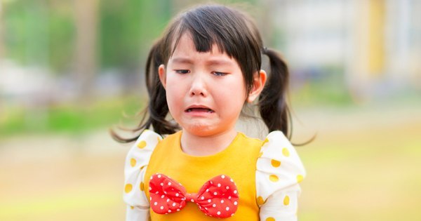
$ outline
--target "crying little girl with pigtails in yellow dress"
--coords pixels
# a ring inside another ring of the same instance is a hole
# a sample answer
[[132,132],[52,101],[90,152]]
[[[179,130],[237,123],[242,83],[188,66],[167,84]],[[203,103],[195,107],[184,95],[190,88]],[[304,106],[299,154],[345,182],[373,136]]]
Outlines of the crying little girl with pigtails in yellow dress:
[[[136,140],[126,159],[126,220],[297,220],[305,169],[285,136],[288,69],[250,18],[219,5],[178,15],[149,53],[146,82],[142,133],[113,134]],[[255,101],[265,140],[234,128]]]

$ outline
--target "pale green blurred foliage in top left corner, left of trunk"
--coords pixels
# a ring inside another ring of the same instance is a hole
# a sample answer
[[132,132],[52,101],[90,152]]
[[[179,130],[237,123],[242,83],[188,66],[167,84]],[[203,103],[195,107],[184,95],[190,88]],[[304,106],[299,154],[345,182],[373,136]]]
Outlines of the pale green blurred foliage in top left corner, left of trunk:
[[49,66],[55,72],[69,69],[76,32],[70,2],[19,0],[5,6],[8,57],[22,65]]

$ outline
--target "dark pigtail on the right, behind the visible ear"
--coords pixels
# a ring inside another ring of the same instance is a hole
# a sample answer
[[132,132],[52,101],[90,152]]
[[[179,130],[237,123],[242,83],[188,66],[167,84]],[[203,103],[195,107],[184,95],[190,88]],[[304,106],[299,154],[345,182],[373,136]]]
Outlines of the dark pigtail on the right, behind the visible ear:
[[288,133],[290,112],[286,103],[289,81],[288,67],[276,51],[264,48],[262,52],[269,57],[270,73],[266,86],[259,96],[260,116],[269,132],[281,130],[290,138]]

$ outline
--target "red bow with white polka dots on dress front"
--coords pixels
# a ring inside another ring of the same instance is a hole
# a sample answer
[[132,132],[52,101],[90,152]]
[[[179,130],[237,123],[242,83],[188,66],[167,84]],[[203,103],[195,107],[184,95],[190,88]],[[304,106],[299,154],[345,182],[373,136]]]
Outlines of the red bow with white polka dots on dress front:
[[149,181],[151,208],[155,213],[168,214],[180,211],[191,201],[211,217],[226,218],[238,208],[239,193],[234,180],[218,175],[206,182],[197,194],[189,194],[177,181],[156,173]]

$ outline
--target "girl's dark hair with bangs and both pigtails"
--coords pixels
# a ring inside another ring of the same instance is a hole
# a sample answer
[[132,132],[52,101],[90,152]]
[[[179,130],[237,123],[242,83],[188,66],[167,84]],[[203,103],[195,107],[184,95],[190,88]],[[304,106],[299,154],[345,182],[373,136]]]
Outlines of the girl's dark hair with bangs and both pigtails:
[[[205,5],[192,8],[178,15],[154,43],[146,64],[146,84],[149,105],[142,121],[133,132],[142,133],[153,127],[161,135],[175,133],[180,127],[168,120],[166,91],[159,81],[158,67],[166,65],[183,34],[190,34],[196,51],[208,52],[218,46],[222,53],[238,62],[244,76],[246,93],[253,88],[253,79],[262,65],[262,55],[269,58],[270,71],[267,84],[259,95],[260,116],[270,131],[281,130],[289,135],[290,113],[286,102],[288,89],[288,67],[276,51],[263,46],[262,38],[253,20],[241,11],[220,5]],[[131,142],[138,138],[125,139],[111,131],[119,142]],[[140,134],[139,133],[139,134]]]

